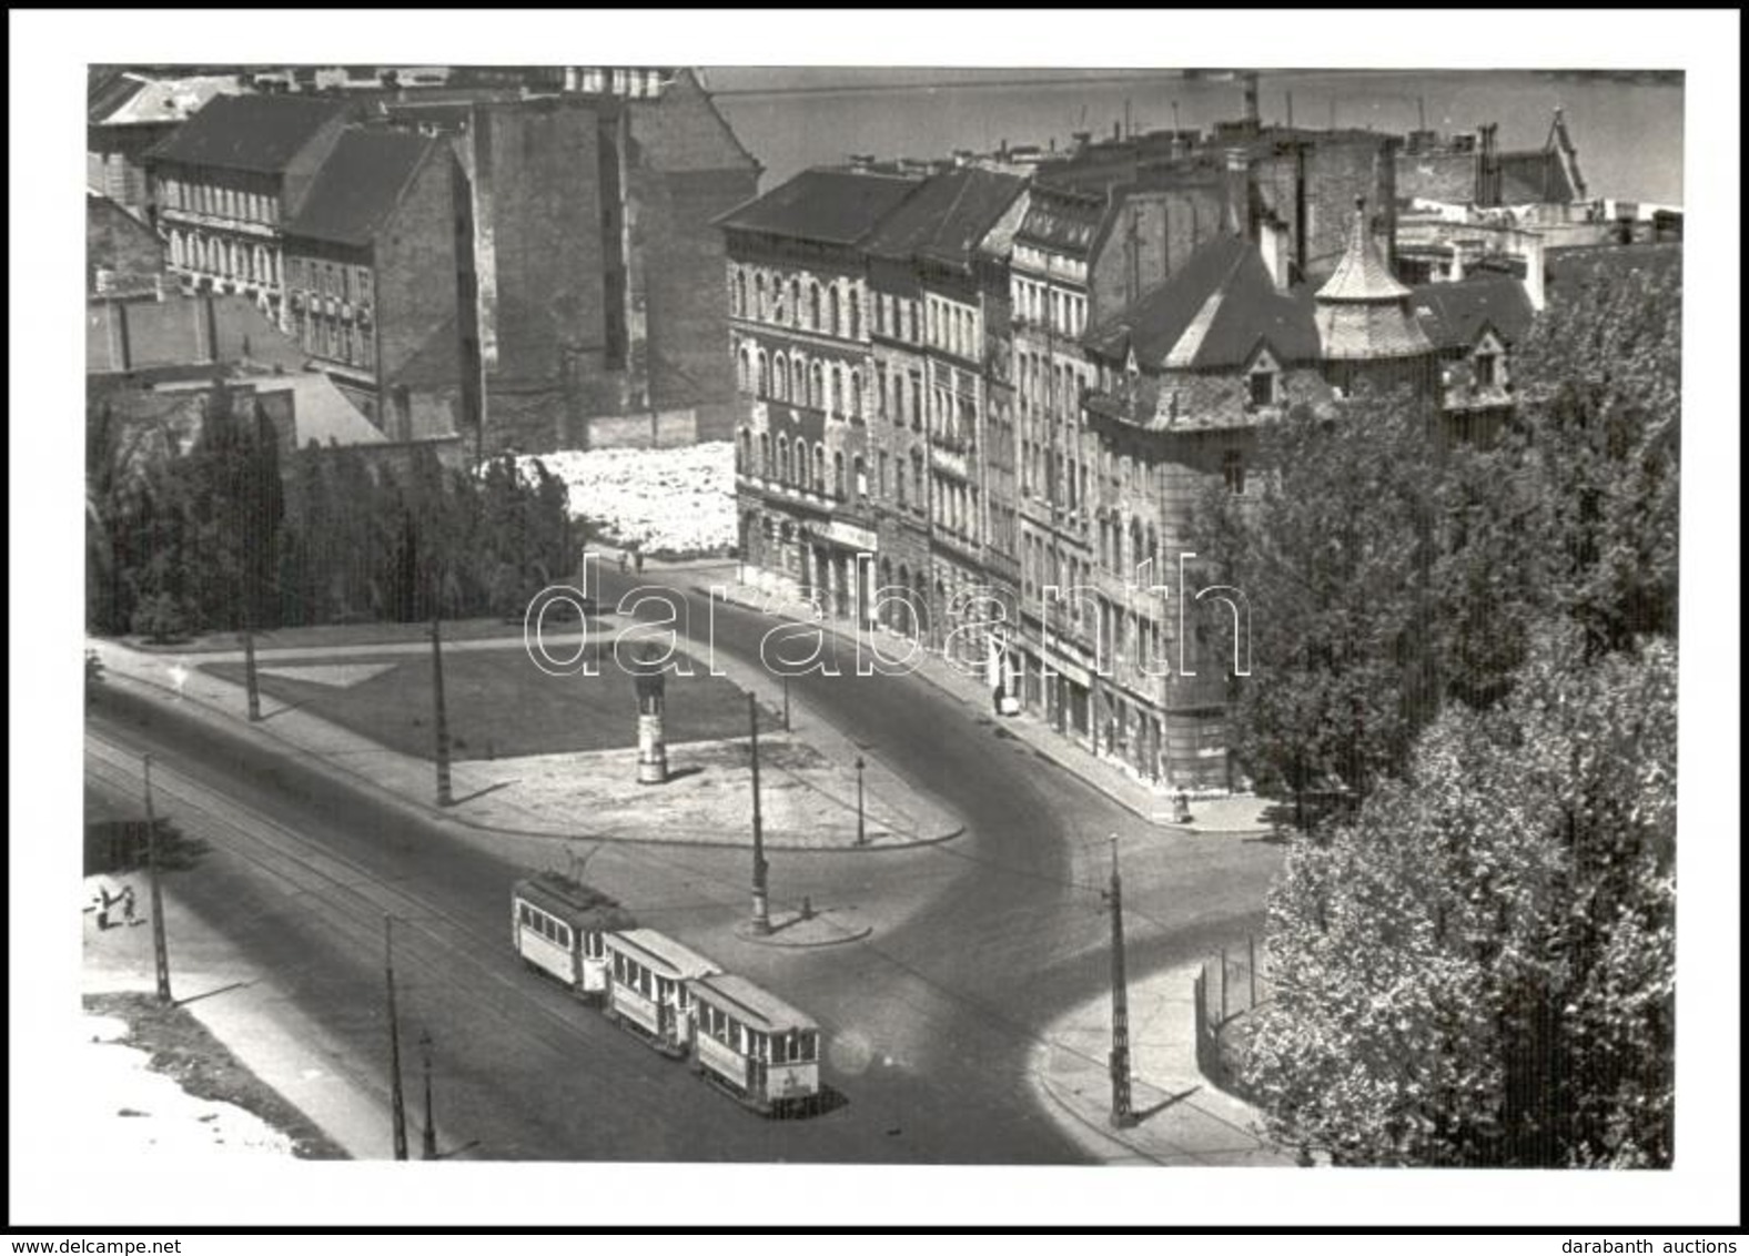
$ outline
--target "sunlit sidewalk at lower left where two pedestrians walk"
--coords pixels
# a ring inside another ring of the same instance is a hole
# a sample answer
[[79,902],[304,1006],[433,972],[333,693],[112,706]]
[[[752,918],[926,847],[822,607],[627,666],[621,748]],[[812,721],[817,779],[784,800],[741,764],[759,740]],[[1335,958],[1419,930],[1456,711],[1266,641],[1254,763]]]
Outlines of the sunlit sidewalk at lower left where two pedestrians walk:
[[[80,995],[150,994],[156,990],[156,971],[145,876],[110,875],[108,880],[138,882],[140,924],[98,929],[96,913],[84,915]],[[229,939],[168,894],[164,932],[171,955],[171,994],[206,1032],[350,1156],[383,1158],[390,1153],[388,1106],[348,1074],[339,1046],[299,1013],[269,976],[252,969]],[[159,1104],[152,1116],[175,1120],[178,1107],[187,1106]],[[138,1120],[115,1113],[93,1116],[105,1121]],[[133,1137],[138,1130],[128,1134]],[[105,1135],[98,1132],[93,1146],[103,1142]],[[285,1155],[290,1155],[289,1148]]]

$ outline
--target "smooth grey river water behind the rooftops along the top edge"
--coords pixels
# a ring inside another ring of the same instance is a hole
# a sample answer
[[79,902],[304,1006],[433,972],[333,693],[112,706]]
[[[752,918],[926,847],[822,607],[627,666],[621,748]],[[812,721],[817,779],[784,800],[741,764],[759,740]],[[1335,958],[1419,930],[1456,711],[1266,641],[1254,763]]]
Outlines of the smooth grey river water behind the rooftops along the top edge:
[[[799,170],[880,157],[946,156],[1009,143],[1058,147],[1072,131],[1207,129],[1240,115],[1238,82],[1175,70],[705,70],[717,107],[766,166],[761,187]],[[1425,114],[1436,131],[1499,122],[1502,149],[1537,149],[1557,105],[1592,196],[1683,203],[1683,86],[1555,77],[1518,70],[1279,70],[1259,80],[1265,121],[1404,133]],[[1174,105],[1177,107],[1174,114]]]

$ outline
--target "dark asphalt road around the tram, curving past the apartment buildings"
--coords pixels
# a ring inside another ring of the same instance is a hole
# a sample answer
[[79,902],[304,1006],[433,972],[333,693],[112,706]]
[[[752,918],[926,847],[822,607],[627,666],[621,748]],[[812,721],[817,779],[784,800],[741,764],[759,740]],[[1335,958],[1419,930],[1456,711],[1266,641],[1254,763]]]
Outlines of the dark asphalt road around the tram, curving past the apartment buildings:
[[[612,579],[607,591],[616,593]],[[705,625],[701,598],[693,623]],[[773,621],[717,605],[719,651],[757,658]],[[967,833],[881,854],[773,857],[773,894],[806,894],[881,922],[862,943],[787,952],[736,939],[745,857],[603,847],[588,876],[640,918],[806,1008],[827,1030],[824,1076],[843,1097],[808,1121],[763,1121],[661,1060],[509,950],[514,854],[336,785],[247,738],[103,696],[87,787],[138,794],[159,756],[163,810],[210,843],[173,892],[355,1050],[357,1081],[387,1095],[383,915],[394,913],[402,1016],[437,1041],[446,1139],[507,1160],[1069,1163],[1081,1158],[1023,1085],[1037,1034],[1107,981],[1109,834],[1119,836],[1130,971],[1238,943],[1261,922],[1279,862],[1268,843],[1165,834],[1123,812],[983,714],[916,677],[792,682],[826,717]],[[409,1081],[416,1071],[409,1071]]]

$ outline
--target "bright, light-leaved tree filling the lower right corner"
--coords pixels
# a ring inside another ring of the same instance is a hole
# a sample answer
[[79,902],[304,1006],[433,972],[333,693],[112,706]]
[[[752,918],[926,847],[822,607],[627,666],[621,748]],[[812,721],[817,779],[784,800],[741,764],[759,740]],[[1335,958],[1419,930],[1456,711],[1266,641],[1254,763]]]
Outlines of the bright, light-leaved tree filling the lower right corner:
[[1245,1072],[1279,1141],[1373,1165],[1669,1165],[1676,647],[1539,630],[1270,896]]

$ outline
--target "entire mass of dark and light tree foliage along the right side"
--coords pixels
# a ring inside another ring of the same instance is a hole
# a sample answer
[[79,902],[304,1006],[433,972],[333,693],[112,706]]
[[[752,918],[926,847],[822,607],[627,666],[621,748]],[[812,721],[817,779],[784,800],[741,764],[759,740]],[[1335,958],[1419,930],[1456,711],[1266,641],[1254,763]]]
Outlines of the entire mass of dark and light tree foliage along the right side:
[[1564,275],[1485,444],[1403,399],[1268,432],[1203,548],[1238,743],[1361,805],[1293,840],[1245,1083],[1338,1163],[1669,1165],[1681,276]]

